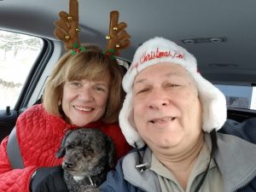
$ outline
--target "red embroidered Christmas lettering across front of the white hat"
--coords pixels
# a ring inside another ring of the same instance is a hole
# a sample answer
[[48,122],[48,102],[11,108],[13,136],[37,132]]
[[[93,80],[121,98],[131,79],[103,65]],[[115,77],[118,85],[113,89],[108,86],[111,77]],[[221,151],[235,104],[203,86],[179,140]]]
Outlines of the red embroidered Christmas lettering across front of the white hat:
[[139,65],[142,65],[144,62],[152,61],[154,59],[160,59],[163,57],[170,57],[172,59],[182,59],[185,60],[185,55],[178,53],[176,50],[164,50],[161,51],[160,49],[156,49],[154,51],[150,51],[150,53],[144,52],[143,55],[140,57],[140,60],[137,61],[133,68],[137,68]]

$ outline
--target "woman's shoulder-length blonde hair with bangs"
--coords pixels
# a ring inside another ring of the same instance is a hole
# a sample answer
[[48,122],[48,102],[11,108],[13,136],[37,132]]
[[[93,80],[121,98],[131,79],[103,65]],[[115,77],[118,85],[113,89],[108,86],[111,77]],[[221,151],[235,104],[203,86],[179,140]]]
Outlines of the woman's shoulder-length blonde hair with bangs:
[[57,62],[44,90],[44,108],[48,113],[65,119],[60,104],[63,85],[66,81],[98,80],[109,77],[108,103],[102,121],[105,123],[117,122],[125,96],[121,86],[123,70],[118,61],[110,59],[108,55],[103,55],[102,49],[98,46],[84,44],[84,47],[86,49],[84,52],[72,55],[69,51]]

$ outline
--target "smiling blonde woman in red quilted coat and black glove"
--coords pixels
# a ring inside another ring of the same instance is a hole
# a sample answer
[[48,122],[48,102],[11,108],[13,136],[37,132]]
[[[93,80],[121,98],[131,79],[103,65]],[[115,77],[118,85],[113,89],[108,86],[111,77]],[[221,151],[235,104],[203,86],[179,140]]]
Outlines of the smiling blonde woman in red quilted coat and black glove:
[[113,138],[117,160],[130,149],[117,124],[124,96],[122,69],[97,46],[84,47],[85,51],[61,57],[49,76],[43,104],[28,108],[17,120],[24,169],[11,168],[8,137],[1,143],[0,191],[28,192],[30,185],[32,191],[67,191],[55,153],[68,130],[88,127],[105,132]]

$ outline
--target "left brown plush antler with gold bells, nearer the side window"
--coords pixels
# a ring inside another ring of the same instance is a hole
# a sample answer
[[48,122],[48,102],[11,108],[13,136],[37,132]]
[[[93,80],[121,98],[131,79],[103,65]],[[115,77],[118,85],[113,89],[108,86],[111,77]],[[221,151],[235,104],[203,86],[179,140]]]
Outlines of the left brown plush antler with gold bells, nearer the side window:
[[60,20],[55,22],[55,36],[64,42],[66,49],[73,49],[73,46],[79,48],[80,29],[78,0],[69,0],[69,14],[65,11],[61,11],[59,15]]

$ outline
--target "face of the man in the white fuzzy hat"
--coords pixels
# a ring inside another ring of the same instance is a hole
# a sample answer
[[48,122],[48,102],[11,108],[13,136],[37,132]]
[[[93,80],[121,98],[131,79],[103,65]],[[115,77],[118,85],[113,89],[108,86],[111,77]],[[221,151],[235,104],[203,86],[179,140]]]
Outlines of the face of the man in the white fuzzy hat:
[[186,148],[201,134],[201,102],[183,67],[160,63],[145,68],[133,84],[137,131],[154,150]]

